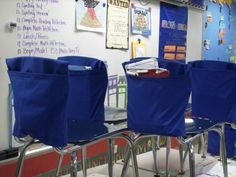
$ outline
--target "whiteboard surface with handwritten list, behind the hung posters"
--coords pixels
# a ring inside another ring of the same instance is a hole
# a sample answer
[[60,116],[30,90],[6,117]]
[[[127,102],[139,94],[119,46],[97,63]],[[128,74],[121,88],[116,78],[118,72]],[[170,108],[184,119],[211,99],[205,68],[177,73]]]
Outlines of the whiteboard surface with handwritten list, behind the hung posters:
[[[131,0],[137,6],[139,1]],[[121,63],[131,58],[131,42],[140,38],[147,44],[147,55],[156,56],[159,43],[160,2],[151,1],[152,32],[148,38],[131,35],[129,50],[105,48],[105,33],[78,31],[75,28],[75,0],[1,0],[0,6],[0,151],[9,147],[8,83],[5,58],[20,55],[36,55],[57,58],[64,55],[83,55],[107,61],[109,75],[123,75]],[[193,30],[202,13],[189,10],[188,32]],[[9,30],[9,22],[17,22],[17,28]],[[187,44],[192,39],[198,43],[187,49],[187,59],[201,56],[202,27],[189,33]],[[188,55],[191,54],[191,55]]]

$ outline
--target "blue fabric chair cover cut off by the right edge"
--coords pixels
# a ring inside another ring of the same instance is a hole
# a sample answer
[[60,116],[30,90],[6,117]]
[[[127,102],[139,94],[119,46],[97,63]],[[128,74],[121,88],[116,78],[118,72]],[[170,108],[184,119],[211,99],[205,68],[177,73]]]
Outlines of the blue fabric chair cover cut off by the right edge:
[[192,115],[236,122],[236,64],[201,60],[190,66]]

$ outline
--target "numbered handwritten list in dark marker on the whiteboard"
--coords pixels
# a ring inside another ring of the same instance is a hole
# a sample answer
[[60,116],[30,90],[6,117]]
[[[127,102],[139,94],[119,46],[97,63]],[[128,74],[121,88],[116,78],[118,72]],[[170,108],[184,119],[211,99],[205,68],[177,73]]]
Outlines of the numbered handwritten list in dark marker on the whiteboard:
[[[79,47],[70,46],[67,22],[60,17],[59,0],[17,0],[17,54],[18,55],[76,55]],[[53,9],[53,10],[52,10]]]

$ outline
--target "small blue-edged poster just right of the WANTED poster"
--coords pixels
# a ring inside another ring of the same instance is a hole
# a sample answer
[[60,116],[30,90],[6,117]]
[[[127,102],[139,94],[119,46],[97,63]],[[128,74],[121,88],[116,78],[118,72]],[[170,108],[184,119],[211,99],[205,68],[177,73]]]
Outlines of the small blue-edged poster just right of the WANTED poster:
[[151,35],[151,8],[131,5],[132,34]]

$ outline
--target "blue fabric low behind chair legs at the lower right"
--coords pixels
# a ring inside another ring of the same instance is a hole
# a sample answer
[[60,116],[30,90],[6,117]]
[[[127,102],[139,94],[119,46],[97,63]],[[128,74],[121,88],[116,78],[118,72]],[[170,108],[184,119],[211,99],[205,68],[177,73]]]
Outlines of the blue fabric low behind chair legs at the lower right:
[[[226,154],[228,158],[233,158],[234,155],[234,144],[236,142],[236,130],[230,128],[229,126],[225,127],[225,146]],[[220,155],[220,136],[218,133],[210,131],[208,133],[208,146],[207,152],[213,155]]]

